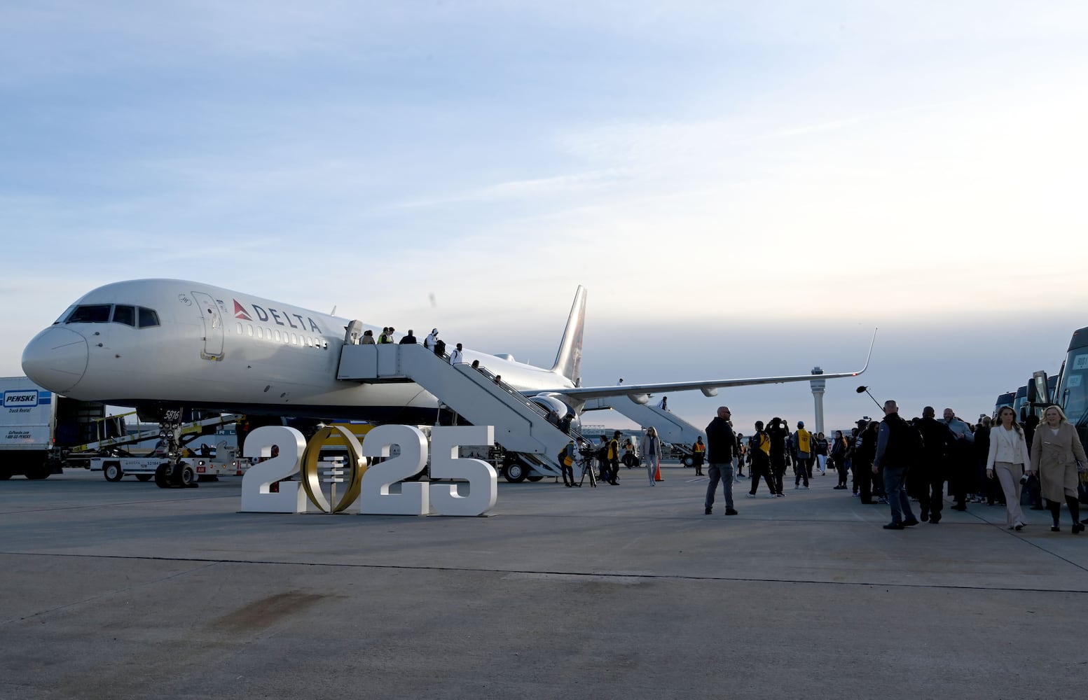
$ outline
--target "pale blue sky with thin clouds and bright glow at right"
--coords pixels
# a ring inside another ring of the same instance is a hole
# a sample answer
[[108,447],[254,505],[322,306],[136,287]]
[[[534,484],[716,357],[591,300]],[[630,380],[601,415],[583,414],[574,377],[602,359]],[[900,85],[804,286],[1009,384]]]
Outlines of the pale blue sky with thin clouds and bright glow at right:
[[[547,365],[582,284],[583,385],[854,371],[879,328],[833,429],[861,383],[990,413],[1088,325],[1079,1],[42,0],[0,65],[0,375],[120,279]],[[669,397],[720,404],[813,418]]]

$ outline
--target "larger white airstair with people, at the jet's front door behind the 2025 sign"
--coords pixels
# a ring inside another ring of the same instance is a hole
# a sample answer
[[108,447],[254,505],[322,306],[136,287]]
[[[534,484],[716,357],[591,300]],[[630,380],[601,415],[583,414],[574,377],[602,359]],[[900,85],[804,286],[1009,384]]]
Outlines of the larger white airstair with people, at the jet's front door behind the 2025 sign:
[[561,476],[556,455],[573,437],[547,411],[494,375],[469,364],[449,364],[421,345],[345,345],[336,378],[415,382],[473,425],[495,428],[495,441],[517,452],[544,476]]

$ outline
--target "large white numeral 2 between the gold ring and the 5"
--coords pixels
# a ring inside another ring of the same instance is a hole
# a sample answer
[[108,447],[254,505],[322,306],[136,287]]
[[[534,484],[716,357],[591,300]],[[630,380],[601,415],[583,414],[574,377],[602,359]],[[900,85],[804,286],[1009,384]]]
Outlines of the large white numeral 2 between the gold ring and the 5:
[[[375,515],[426,515],[431,510],[428,485],[404,482],[423,471],[426,464],[426,436],[410,425],[379,425],[362,440],[364,457],[390,457],[390,446],[399,445],[400,454],[371,464],[362,475],[359,510]],[[400,492],[390,486],[400,482]]]

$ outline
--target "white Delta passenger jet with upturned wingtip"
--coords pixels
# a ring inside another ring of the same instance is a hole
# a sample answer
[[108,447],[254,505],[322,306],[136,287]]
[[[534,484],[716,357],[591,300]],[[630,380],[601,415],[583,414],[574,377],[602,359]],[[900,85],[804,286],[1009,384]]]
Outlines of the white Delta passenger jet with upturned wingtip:
[[[806,374],[583,387],[584,320],[585,290],[579,287],[549,368],[471,350],[465,351],[465,361],[480,360],[524,396],[559,415],[576,416],[592,399],[628,397],[645,403],[652,392],[698,389],[709,397],[724,387],[813,379]],[[440,400],[418,384],[336,378],[341,349],[355,341],[353,333],[361,334],[359,326],[196,282],[126,280],[86,293],[37,334],[23,351],[23,371],[50,391],[112,405],[433,423]],[[819,378],[853,377],[867,366],[868,357],[857,372]]]

